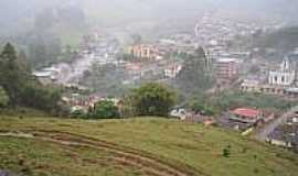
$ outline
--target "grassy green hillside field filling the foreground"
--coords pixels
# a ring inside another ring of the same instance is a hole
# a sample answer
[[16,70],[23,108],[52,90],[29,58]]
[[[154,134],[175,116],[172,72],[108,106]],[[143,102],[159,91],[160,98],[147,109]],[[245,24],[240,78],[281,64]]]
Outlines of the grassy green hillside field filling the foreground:
[[[0,168],[24,175],[296,176],[297,155],[167,119],[0,118]],[[231,156],[223,150],[231,146]]]

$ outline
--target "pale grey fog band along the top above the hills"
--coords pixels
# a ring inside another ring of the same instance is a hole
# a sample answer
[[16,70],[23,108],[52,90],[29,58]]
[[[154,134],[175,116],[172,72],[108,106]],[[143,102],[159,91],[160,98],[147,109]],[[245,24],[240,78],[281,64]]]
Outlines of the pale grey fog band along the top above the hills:
[[91,22],[99,24],[195,16],[205,10],[237,18],[298,22],[297,0],[1,0],[0,31],[29,28],[43,9],[64,6],[81,8]]

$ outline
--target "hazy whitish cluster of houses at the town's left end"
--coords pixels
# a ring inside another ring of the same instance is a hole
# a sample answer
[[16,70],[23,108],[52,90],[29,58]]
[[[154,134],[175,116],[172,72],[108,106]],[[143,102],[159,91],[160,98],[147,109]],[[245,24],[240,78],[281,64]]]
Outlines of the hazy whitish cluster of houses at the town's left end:
[[119,42],[113,35],[100,32],[92,32],[83,37],[83,42],[76,48],[76,55],[72,63],[53,64],[49,67],[33,72],[33,75],[43,84],[77,84],[84,72],[97,65],[120,64],[116,59],[119,53]]

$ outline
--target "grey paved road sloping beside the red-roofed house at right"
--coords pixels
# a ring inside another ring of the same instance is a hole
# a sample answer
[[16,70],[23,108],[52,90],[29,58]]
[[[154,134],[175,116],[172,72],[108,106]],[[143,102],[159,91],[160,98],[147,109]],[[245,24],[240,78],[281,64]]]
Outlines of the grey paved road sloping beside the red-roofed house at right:
[[296,111],[298,111],[298,106],[291,108],[289,111],[284,113],[280,118],[274,120],[272,123],[265,125],[256,135],[255,138],[259,141],[266,141],[267,136],[274,132],[276,128],[287,122],[288,117],[292,116]]

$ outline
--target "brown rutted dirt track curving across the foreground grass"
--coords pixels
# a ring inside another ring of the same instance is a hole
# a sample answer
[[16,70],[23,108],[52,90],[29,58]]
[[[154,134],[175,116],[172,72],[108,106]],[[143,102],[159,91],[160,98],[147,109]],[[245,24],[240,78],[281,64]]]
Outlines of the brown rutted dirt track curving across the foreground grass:
[[[172,164],[143,151],[120,146],[107,141],[86,138],[79,134],[60,131],[26,131],[2,132],[0,133],[0,136],[34,139],[72,147],[87,147],[105,151],[110,153],[108,160],[111,163],[139,168],[142,173],[150,176],[206,176],[206,174],[179,162],[173,162],[174,164]],[[92,162],[96,163],[97,158],[93,158]]]

